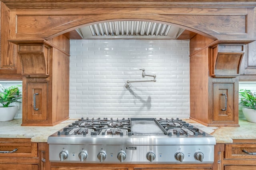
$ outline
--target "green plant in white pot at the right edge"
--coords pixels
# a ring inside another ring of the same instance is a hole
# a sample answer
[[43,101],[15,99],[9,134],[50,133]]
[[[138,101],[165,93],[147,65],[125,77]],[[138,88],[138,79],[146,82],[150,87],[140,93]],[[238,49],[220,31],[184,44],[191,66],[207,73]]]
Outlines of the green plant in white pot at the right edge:
[[247,121],[256,123],[256,93],[251,90],[240,90],[240,105]]

